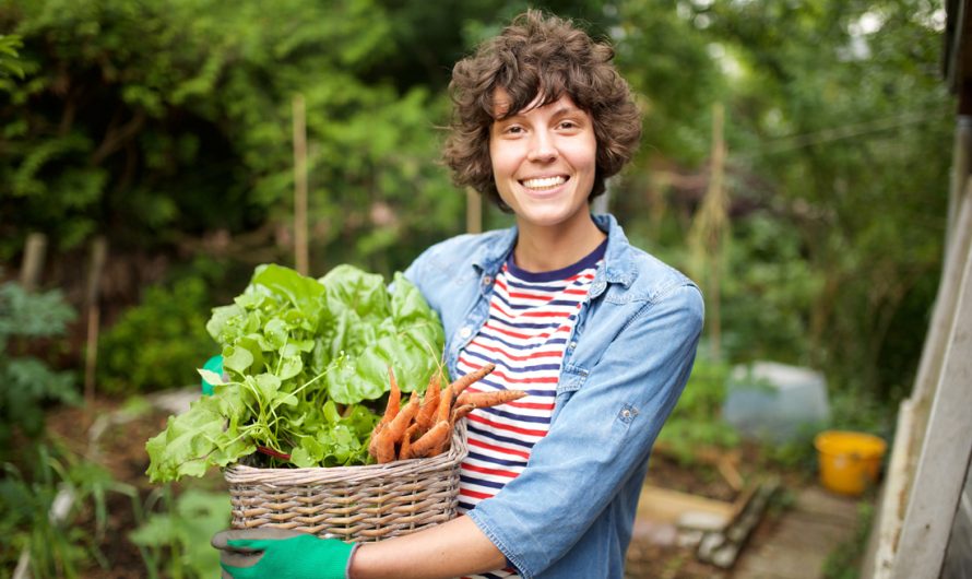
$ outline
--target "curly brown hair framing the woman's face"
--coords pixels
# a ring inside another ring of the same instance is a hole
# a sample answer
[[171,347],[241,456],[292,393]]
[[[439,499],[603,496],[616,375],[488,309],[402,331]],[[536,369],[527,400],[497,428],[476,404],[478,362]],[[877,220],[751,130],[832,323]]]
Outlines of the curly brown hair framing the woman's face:
[[509,210],[496,189],[489,158],[489,129],[505,118],[496,118],[493,107],[494,93],[502,87],[511,105],[506,116],[523,110],[537,95],[537,106],[543,106],[564,94],[591,115],[597,169],[588,200],[603,193],[605,179],[625,166],[641,138],[641,114],[613,58],[611,46],[594,42],[570,21],[529,10],[460,60],[449,84],[453,115],[443,149],[455,185],[472,186]]

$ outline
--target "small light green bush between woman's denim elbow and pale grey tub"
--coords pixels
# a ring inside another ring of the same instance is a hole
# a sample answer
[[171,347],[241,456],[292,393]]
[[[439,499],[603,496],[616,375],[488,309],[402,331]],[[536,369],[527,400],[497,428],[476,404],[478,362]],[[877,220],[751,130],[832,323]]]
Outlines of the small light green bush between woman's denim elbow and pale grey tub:
[[738,434],[720,418],[728,367],[707,356],[702,350],[685,391],[657,439],[667,453],[685,464],[695,462],[700,447],[731,448],[739,442]]

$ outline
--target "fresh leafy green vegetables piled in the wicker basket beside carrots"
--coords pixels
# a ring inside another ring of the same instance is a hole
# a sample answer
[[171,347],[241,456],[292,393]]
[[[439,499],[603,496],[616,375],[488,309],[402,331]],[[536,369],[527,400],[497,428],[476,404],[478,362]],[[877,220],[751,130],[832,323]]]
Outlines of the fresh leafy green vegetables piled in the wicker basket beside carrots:
[[297,466],[364,464],[392,366],[405,392],[439,371],[441,323],[401,273],[339,265],[320,280],[260,265],[206,323],[228,376],[199,370],[212,397],[169,417],[145,448],[153,482],[201,476],[258,446]]

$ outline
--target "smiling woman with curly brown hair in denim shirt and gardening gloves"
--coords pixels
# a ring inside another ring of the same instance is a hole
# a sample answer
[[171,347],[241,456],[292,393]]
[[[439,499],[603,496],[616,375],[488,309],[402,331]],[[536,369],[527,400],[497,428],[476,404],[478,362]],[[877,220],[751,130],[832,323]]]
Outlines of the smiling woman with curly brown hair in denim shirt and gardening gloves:
[[246,577],[623,577],[654,439],[691,370],[698,288],[590,201],[641,121],[609,47],[530,11],[460,61],[446,159],[515,216],[406,271],[446,328],[450,373],[530,395],[469,417],[457,519],[380,543],[233,542]]

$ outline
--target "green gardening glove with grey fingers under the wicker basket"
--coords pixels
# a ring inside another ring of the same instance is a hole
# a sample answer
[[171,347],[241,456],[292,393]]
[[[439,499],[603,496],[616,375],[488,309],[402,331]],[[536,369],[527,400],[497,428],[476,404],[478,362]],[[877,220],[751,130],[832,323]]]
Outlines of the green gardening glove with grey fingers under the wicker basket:
[[[286,539],[235,539],[248,531],[224,531],[213,537],[222,548],[220,566],[233,579],[346,579],[356,545],[300,533]],[[259,536],[253,529],[252,535]],[[222,545],[222,546],[221,546]],[[230,562],[230,563],[227,563]]]

